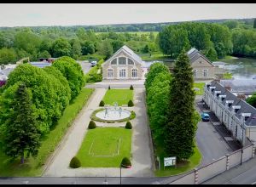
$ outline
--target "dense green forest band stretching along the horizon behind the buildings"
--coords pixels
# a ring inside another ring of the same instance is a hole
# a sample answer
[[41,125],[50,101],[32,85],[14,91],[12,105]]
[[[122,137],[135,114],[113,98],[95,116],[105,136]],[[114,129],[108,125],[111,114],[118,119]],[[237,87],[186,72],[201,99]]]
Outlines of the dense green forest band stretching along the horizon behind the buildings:
[[[227,55],[256,58],[254,19],[208,20],[113,26],[37,26],[0,28],[0,64],[24,57],[70,56],[108,59],[127,45],[144,60],[175,59],[197,48],[211,60]],[[105,28],[105,29],[104,29]]]

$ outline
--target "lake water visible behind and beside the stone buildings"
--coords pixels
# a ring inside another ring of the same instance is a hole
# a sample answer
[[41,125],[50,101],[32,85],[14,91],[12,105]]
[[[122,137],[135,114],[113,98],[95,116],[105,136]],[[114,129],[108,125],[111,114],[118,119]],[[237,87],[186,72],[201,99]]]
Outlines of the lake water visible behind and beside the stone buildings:
[[[237,58],[237,59],[221,59],[219,61],[225,62],[225,71],[233,74],[234,79],[249,79],[256,77],[256,59]],[[163,62],[167,66],[173,66],[172,62]],[[149,67],[154,61],[143,62],[144,67]],[[256,81],[256,80],[255,80]]]

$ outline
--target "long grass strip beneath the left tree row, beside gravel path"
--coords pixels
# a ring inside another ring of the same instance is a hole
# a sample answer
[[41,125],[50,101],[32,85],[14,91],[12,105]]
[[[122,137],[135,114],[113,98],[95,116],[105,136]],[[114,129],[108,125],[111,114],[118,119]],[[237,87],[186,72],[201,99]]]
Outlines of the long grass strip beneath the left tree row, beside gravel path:
[[44,139],[42,139],[42,144],[36,158],[30,157],[26,160],[25,164],[20,165],[20,158],[15,161],[9,161],[9,158],[4,156],[3,152],[0,152],[0,176],[41,176],[45,161],[56,149],[56,146],[60,143],[61,139],[67,132],[67,128],[70,127],[73,120],[93,92],[94,89],[83,88],[77,98],[74,99],[73,104],[67,106],[63,116],[61,116],[61,119],[58,121],[55,128],[52,129],[49,134],[45,135]]

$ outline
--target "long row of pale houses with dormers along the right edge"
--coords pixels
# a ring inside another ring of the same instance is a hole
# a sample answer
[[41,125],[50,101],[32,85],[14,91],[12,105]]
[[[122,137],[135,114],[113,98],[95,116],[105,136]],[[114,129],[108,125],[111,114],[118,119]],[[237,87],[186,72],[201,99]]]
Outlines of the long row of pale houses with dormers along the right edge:
[[256,109],[252,105],[218,81],[206,84],[203,100],[241,144],[247,144],[247,139],[256,141]]

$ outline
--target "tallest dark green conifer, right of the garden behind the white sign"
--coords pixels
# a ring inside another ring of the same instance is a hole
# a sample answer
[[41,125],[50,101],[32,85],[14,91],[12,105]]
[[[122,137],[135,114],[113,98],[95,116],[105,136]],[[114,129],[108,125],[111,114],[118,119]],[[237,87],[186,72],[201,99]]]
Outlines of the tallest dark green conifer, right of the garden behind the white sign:
[[170,102],[165,126],[164,149],[168,156],[188,159],[194,154],[195,91],[189,57],[185,51],[175,62],[170,89]]

